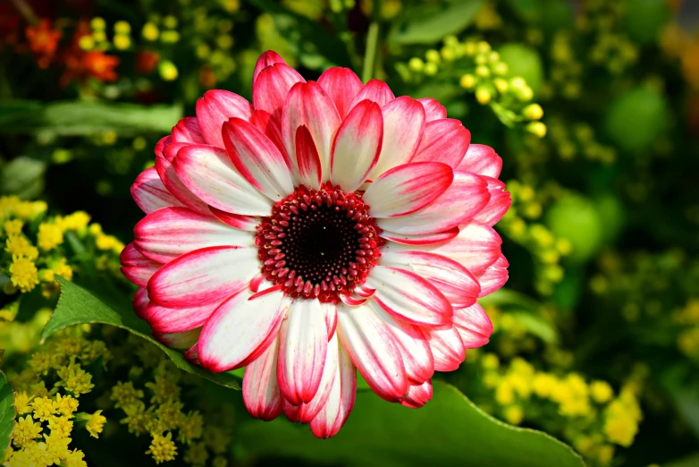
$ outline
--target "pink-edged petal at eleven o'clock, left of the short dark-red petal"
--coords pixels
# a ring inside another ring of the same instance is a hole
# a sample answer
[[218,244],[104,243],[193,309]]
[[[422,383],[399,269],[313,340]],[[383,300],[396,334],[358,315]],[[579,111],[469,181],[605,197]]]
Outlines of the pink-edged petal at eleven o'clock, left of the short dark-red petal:
[[282,200],[293,191],[286,157],[255,126],[240,118],[232,118],[223,124],[223,144],[233,166],[267,198]]

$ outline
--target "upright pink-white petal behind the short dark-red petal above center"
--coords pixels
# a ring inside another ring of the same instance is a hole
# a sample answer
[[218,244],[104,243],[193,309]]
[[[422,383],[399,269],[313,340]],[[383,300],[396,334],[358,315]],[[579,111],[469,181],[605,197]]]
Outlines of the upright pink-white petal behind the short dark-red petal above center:
[[[320,165],[323,167],[323,181],[330,176],[330,153],[335,132],[341,119],[333,100],[315,81],[297,84],[284,103],[282,112],[282,135],[284,147],[296,163],[296,132],[299,126],[306,125],[316,143]],[[298,168],[298,167],[297,167]]]

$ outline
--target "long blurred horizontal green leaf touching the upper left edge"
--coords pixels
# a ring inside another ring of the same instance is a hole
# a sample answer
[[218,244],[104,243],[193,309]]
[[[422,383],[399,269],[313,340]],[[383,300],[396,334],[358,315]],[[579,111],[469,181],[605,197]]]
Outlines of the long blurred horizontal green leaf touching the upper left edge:
[[96,132],[139,134],[170,132],[182,117],[182,108],[107,104],[98,101],[52,102],[30,100],[0,102],[0,132],[54,132],[58,135],[90,135]]

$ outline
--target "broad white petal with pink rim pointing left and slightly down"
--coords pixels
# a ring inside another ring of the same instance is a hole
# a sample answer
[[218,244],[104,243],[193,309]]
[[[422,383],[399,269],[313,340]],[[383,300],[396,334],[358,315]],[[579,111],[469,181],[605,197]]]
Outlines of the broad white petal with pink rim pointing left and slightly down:
[[161,267],[148,281],[148,296],[172,308],[214,303],[248,287],[258,270],[257,248],[195,250]]

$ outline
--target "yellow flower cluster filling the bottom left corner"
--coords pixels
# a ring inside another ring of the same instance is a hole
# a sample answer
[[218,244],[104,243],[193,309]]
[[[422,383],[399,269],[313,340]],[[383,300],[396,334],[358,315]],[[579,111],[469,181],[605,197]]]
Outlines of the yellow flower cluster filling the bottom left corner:
[[[82,426],[90,436],[98,437],[106,419],[102,411],[92,414],[77,412],[80,395],[90,392],[91,375],[80,369],[84,364],[102,358],[108,360],[104,342],[84,339],[79,329],[64,331],[46,344],[46,349],[35,352],[30,365],[19,375],[10,375],[17,393],[14,406],[17,420],[12,433],[12,445],[4,453],[4,467],[45,467],[54,464],[69,467],[87,467],[84,454],[72,448],[72,430]],[[67,365],[65,363],[68,362]],[[59,381],[46,389],[42,376],[53,374]],[[63,387],[64,393],[59,392]]]

